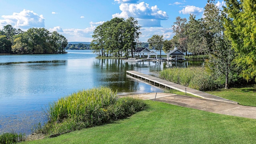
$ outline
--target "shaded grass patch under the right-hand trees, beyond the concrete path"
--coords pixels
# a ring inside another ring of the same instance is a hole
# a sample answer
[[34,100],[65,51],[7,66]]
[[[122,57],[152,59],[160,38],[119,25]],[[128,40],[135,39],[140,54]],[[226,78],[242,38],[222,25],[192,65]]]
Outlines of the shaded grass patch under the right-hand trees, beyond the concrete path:
[[207,93],[236,101],[244,106],[256,106],[256,85],[243,88],[219,89],[207,91]]

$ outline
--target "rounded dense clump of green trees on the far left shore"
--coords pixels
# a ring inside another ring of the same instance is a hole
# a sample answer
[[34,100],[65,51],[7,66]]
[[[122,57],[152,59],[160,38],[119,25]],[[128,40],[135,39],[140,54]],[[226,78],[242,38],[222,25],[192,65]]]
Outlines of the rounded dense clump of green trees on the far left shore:
[[65,53],[68,40],[58,32],[45,28],[27,31],[6,25],[0,30],[1,54],[57,54]]

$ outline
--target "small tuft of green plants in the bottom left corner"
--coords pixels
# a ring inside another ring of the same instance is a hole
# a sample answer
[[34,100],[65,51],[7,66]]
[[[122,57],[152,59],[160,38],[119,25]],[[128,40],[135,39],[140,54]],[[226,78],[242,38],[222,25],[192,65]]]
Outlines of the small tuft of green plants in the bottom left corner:
[[25,134],[4,133],[0,135],[0,144],[14,144],[17,142],[22,142],[26,140]]

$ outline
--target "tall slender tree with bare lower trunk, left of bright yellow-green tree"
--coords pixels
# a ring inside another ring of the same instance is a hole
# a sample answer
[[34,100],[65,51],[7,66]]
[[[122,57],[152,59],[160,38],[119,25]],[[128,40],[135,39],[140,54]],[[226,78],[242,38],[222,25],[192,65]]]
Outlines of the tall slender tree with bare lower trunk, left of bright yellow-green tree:
[[225,76],[225,88],[229,88],[229,75],[233,71],[234,50],[230,41],[224,35],[223,18],[215,0],[208,0],[204,7],[204,22],[207,35],[209,61],[208,68],[218,77]]

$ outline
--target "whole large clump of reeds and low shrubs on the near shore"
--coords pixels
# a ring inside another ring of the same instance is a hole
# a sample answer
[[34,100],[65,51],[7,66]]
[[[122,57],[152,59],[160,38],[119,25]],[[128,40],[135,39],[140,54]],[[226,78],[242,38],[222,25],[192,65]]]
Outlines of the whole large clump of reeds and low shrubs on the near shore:
[[126,118],[145,108],[143,100],[118,98],[110,88],[80,90],[49,104],[47,134],[80,130]]

